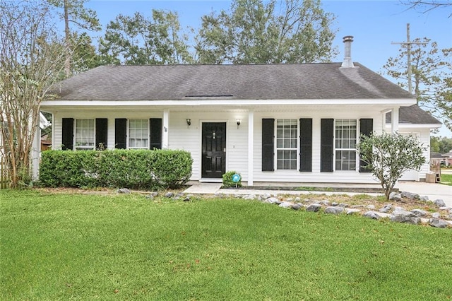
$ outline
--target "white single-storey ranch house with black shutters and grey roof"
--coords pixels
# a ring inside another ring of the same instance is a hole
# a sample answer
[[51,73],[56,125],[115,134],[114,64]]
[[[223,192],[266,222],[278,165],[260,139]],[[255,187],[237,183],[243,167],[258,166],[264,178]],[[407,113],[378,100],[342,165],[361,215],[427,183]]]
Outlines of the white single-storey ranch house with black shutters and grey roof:
[[[54,149],[184,149],[195,181],[235,170],[250,186],[374,183],[360,170],[359,134],[400,131],[428,146],[441,124],[410,93],[352,63],[351,42],[342,63],[100,66],[61,82],[41,110],[53,114]],[[426,172],[428,163],[405,179]]]

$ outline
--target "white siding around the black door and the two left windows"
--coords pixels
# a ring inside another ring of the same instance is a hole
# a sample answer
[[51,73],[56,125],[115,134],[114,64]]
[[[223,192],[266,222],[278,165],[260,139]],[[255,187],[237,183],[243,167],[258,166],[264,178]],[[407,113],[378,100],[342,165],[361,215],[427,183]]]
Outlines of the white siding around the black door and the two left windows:
[[[246,181],[248,177],[248,120],[244,112],[172,112],[169,111],[169,145],[170,149],[183,149],[191,153],[193,158],[192,180],[201,179],[201,129],[202,122],[226,122],[226,171],[235,170]],[[163,112],[55,112],[53,127],[54,149],[61,149],[61,122],[63,118],[107,118],[108,119],[108,148],[114,149],[114,119],[149,119],[162,118]],[[186,119],[191,119],[191,126],[187,126]],[[237,128],[237,118],[241,124]]]

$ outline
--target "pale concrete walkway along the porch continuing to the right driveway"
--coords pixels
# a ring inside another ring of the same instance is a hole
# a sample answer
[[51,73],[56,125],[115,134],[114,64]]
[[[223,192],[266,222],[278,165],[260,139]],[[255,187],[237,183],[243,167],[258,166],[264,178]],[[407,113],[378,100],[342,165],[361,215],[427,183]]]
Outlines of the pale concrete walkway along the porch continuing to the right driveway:
[[[262,195],[262,194],[292,194],[292,195],[304,195],[304,194],[326,194],[326,195],[334,195],[334,194],[347,194],[350,196],[356,194],[362,194],[362,192],[343,192],[343,191],[294,191],[294,190],[284,190],[281,189],[281,184],[278,183],[278,190],[272,189],[221,189],[222,184],[220,183],[199,183],[192,182],[191,187],[184,191],[185,194],[230,194],[230,195]],[[298,184],[299,186],[300,184]],[[315,187],[311,186],[311,184],[303,184],[305,187]],[[361,186],[362,188],[378,188],[379,185],[369,184],[369,185],[357,185],[357,184],[331,184],[328,183],[328,187],[340,187],[344,189],[345,187],[350,187],[355,190],[357,187]],[[271,188],[271,187],[266,187]],[[452,186],[447,186],[443,184],[434,184],[434,183],[426,183],[426,182],[408,182],[401,181],[396,184],[396,188],[399,191],[408,191],[415,194],[419,194],[420,196],[428,196],[429,200],[434,201],[436,199],[442,199],[446,206],[452,208]],[[366,193],[371,196],[378,196],[381,193]]]

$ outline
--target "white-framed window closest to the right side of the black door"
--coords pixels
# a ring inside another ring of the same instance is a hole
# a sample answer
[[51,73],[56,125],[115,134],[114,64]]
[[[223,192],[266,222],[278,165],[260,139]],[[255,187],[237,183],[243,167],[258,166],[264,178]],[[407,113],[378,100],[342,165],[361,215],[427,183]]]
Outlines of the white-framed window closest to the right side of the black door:
[[[295,133],[292,132],[292,128],[289,129],[285,129],[283,127],[283,137],[280,137],[278,134],[278,122],[283,122],[283,126],[292,126],[295,125]],[[285,123],[288,124],[285,124]],[[293,124],[292,124],[293,123]],[[285,131],[289,131],[289,135],[288,137],[285,137]],[[278,147],[278,142],[282,141],[283,146],[282,147]],[[287,146],[285,145],[285,142],[289,141],[290,145]],[[295,141],[295,147],[292,146],[292,142]],[[278,151],[290,151],[290,153],[295,153],[295,160],[294,158],[283,158],[283,159],[279,159],[278,156]],[[276,119],[275,122],[275,170],[298,170],[299,169],[299,120],[298,119]],[[285,168],[285,160],[288,160],[290,163],[290,168]],[[279,167],[280,162],[283,162],[283,167]],[[295,165],[294,165],[295,163]]]

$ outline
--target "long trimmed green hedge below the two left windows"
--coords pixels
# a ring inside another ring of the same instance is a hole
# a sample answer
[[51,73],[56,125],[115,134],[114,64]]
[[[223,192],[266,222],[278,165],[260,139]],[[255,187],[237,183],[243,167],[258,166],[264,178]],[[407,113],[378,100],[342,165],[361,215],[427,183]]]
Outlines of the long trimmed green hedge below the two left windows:
[[187,151],[44,151],[44,187],[175,188],[189,181],[193,160]]

